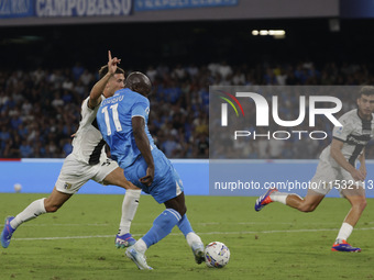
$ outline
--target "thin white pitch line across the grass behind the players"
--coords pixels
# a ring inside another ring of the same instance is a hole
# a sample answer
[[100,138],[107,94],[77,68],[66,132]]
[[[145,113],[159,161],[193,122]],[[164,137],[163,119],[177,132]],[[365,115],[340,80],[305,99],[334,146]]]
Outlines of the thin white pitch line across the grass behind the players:
[[[276,233],[314,233],[314,232],[336,232],[339,228],[319,228],[319,229],[286,229],[286,231],[262,231],[262,232],[210,232],[197,233],[198,235],[233,235],[233,234],[276,234]],[[374,231],[374,227],[354,228],[354,231]],[[182,233],[172,233],[169,235],[176,236]],[[133,234],[133,236],[142,236],[142,234]],[[34,238],[13,238],[13,240],[58,240],[58,239],[88,239],[88,238],[113,238],[114,235],[91,235],[91,236],[65,236],[65,237],[34,237]]]

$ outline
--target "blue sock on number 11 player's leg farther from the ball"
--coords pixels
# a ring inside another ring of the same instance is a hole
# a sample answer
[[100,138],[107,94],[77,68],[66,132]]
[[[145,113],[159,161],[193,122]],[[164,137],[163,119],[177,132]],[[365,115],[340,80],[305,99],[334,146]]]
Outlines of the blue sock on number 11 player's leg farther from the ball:
[[174,209],[166,209],[153,221],[151,229],[142,237],[146,247],[156,244],[167,236],[173,227],[180,221],[180,214]]

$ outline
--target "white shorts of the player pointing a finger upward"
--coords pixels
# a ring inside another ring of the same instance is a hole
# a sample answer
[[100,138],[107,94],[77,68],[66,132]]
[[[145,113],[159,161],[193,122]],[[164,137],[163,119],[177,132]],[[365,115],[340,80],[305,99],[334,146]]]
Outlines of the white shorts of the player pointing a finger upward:
[[118,168],[118,164],[110,158],[105,158],[99,164],[90,166],[78,161],[70,154],[64,160],[55,187],[61,192],[73,194],[90,179],[103,184],[103,179],[116,168]]

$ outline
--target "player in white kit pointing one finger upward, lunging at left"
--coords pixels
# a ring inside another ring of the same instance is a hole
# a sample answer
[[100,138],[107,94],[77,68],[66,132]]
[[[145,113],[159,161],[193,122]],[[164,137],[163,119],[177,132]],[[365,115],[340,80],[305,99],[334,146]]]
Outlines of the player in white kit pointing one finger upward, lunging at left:
[[124,71],[117,65],[120,59],[112,58],[108,53],[109,61],[101,67],[100,80],[92,87],[90,96],[81,104],[81,121],[78,131],[74,134],[73,152],[64,160],[59,176],[51,195],[32,202],[15,217],[6,219],[1,233],[1,245],[7,248],[12,234],[24,222],[33,220],[41,214],[56,212],[82,184],[92,179],[102,184],[113,184],[127,189],[122,203],[122,216],[119,233],[116,236],[116,247],[128,247],[136,240],[130,234],[141,195],[141,189],[127,180],[122,168],[114,160],[107,157],[106,142],[102,139],[96,122],[96,113],[103,99],[114,94],[124,87]]

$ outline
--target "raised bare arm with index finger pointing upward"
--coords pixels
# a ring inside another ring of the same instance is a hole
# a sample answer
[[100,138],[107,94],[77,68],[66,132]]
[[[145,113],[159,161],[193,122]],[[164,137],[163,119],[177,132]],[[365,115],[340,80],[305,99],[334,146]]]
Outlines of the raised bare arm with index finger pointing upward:
[[89,108],[94,109],[98,104],[100,104],[101,94],[109,79],[114,76],[116,70],[117,70],[117,65],[120,63],[121,63],[121,59],[118,59],[117,57],[112,58],[110,51],[108,51],[108,72],[92,87],[91,92],[89,93],[89,101],[88,101]]

